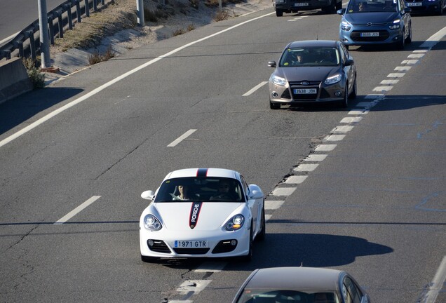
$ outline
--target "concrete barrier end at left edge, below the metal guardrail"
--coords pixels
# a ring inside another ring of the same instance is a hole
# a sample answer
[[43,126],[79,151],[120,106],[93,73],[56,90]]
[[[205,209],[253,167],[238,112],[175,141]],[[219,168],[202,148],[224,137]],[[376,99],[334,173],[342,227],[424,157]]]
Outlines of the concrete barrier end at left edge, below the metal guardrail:
[[22,59],[0,62],[0,103],[32,90],[32,81]]

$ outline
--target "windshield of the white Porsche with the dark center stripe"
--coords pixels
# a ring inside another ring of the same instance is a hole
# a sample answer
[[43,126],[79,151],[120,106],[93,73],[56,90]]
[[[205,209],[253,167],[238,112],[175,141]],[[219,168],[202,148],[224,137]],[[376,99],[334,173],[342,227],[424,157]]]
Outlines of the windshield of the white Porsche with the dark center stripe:
[[225,177],[180,177],[165,180],[155,202],[245,202],[240,182]]

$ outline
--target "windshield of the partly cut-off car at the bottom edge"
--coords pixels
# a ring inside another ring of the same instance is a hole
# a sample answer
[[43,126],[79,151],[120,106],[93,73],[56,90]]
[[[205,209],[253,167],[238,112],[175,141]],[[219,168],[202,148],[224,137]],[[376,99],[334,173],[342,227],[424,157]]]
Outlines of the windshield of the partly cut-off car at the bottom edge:
[[339,303],[334,292],[297,290],[245,290],[237,303]]

